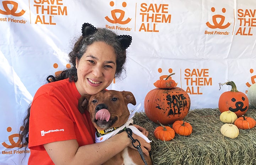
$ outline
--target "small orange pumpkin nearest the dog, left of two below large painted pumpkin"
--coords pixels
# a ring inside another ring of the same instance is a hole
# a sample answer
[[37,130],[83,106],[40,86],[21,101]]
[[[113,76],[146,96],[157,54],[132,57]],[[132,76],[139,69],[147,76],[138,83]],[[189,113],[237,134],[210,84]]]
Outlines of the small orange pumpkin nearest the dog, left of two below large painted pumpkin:
[[156,129],[154,130],[154,137],[162,141],[170,141],[171,139],[173,139],[175,136],[173,128],[169,126],[164,126],[159,121],[158,123],[160,126],[156,127]]

